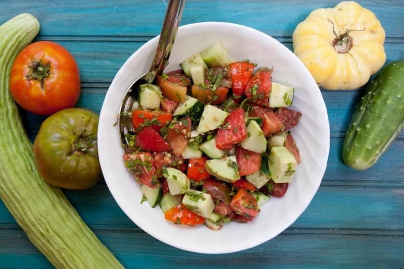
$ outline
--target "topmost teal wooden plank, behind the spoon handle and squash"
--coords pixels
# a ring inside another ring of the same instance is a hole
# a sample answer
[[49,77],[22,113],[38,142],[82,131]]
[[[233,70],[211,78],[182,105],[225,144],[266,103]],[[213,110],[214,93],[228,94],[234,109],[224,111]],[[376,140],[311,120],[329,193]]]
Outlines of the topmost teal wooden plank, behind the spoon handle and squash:
[[[145,35],[160,33],[167,1],[69,1],[43,2],[6,0],[1,4],[0,21],[30,12],[41,23],[43,35]],[[61,5],[63,3],[63,5]],[[272,36],[291,36],[296,25],[317,8],[334,7],[333,0],[314,1],[188,1],[181,25],[202,21],[225,21],[246,25]],[[389,37],[404,37],[404,7],[399,1],[361,1],[372,10]],[[285,14],[285,7],[287,13]],[[52,12],[49,12],[52,10]],[[392,16],[394,11],[395,16]],[[221,14],[218,16],[218,14]]]

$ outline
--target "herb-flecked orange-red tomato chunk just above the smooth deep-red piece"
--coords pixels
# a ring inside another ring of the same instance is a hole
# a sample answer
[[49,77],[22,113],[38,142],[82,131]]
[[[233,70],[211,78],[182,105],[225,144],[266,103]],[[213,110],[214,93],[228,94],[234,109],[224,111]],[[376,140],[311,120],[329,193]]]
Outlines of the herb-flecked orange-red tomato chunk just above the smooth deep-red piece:
[[160,131],[172,119],[173,115],[166,112],[148,110],[135,110],[132,112],[132,124],[135,131],[139,131],[145,126],[151,126],[156,131]]

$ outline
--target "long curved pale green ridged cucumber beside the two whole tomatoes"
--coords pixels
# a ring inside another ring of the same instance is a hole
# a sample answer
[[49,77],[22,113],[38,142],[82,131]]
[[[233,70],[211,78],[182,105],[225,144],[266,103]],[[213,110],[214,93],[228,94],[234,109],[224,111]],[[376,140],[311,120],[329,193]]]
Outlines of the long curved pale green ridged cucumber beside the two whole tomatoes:
[[9,77],[18,53],[39,32],[21,14],[0,26],[0,198],[31,242],[57,268],[123,268],[81,220],[63,192],[36,168],[32,144],[11,97]]

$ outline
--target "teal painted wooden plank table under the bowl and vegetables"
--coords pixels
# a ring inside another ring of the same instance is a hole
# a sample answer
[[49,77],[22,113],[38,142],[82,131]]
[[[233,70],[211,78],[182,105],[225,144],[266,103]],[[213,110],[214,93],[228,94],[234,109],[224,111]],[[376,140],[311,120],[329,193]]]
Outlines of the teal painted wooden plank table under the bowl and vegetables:
[[[337,3],[188,0],[181,25],[202,21],[238,23],[263,31],[291,49],[291,35],[298,22],[314,9]],[[359,3],[376,14],[386,31],[387,62],[403,59],[404,2]],[[2,0],[0,24],[19,13],[36,16],[41,23],[36,40],[62,44],[78,62],[82,92],[77,105],[99,113],[118,69],[136,49],[160,33],[166,6],[165,0]],[[320,189],[291,227],[255,248],[224,255],[178,250],[137,228],[119,208],[105,182],[86,191],[65,193],[126,267],[404,267],[404,133],[371,169],[352,170],[342,162],[341,146],[363,91],[321,93],[330,120],[331,148]],[[33,140],[44,118],[24,111],[21,116]],[[0,267],[52,267],[2,202]]]

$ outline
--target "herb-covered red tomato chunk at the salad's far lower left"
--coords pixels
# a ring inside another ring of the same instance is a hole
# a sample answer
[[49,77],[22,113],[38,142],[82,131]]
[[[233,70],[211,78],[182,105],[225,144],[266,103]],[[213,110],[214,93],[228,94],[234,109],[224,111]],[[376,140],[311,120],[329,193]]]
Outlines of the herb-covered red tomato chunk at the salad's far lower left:
[[160,182],[157,179],[155,161],[150,152],[125,153],[123,159],[125,160],[126,167],[135,177],[135,180],[150,188],[160,186]]

